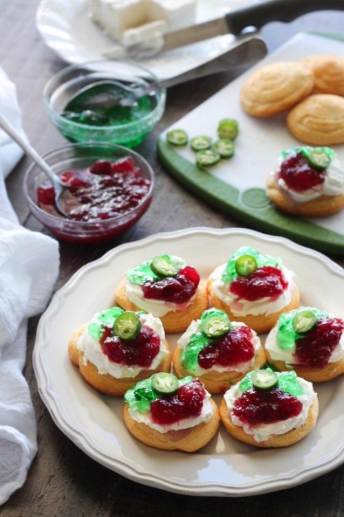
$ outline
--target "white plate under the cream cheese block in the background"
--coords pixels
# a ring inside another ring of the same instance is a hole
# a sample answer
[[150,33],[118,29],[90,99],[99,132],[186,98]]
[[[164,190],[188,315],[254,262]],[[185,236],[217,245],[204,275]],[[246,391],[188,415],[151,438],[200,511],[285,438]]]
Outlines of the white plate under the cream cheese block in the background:
[[[235,0],[199,0],[197,23],[221,16]],[[241,3],[250,0],[241,0]],[[36,14],[36,26],[48,47],[67,63],[83,63],[102,59],[103,53],[114,46],[115,42],[87,16],[87,0],[42,0]],[[226,52],[235,37],[230,34],[194,43],[184,48],[164,52],[140,63],[159,77],[168,79],[186,72]]]

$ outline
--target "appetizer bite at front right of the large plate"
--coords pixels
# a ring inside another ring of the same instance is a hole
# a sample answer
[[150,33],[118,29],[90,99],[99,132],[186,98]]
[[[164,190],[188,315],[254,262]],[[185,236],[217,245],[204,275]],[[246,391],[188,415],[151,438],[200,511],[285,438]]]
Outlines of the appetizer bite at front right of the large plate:
[[224,394],[220,418],[228,433],[257,447],[288,447],[307,436],[318,418],[312,383],[295,372],[249,372]]

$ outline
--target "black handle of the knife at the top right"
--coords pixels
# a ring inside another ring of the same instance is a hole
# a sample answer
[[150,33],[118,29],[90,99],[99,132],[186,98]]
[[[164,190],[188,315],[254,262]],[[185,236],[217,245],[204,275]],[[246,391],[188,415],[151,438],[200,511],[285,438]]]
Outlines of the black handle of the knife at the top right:
[[268,0],[230,11],[226,21],[230,32],[237,35],[249,26],[260,29],[269,21],[292,21],[301,14],[329,9],[344,10],[344,0]]

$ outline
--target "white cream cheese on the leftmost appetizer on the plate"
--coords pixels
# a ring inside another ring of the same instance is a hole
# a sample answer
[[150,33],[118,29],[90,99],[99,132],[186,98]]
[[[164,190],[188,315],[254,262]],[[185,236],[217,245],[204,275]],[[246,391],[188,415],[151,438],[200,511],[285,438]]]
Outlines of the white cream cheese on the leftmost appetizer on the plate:
[[[97,320],[98,314],[92,318],[92,321]],[[153,359],[149,369],[153,370],[160,365],[164,358],[168,355],[168,350],[165,345],[165,333],[162,323],[158,318],[152,316],[152,314],[140,314],[140,322],[142,325],[151,327],[160,337],[160,351]],[[90,322],[90,323],[91,323]],[[101,375],[109,374],[115,378],[123,377],[136,377],[142,372],[142,367],[139,366],[126,366],[114,361],[110,361],[108,356],[103,353],[102,347],[96,339],[94,339],[85,329],[83,335],[78,341],[78,349],[83,352],[83,362],[86,365],[87,361],[92,363],[98,369],[98,373]]]

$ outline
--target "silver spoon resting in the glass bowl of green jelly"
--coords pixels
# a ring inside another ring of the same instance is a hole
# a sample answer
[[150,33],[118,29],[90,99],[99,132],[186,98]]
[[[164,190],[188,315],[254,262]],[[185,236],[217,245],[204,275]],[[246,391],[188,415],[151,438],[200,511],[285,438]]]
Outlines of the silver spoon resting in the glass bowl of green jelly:
[[[94,99],[87,101],[87,108],[92,111],[94,108],[111,108],[112,106],[132,106],[136,101],[144,95],[150,94],[160,88],[169,88],[191,79],[199,79],[200,77],[206,77],[210,74],[216,74],[218,72],[228,72],[230,69],[256,63],[259,59],[266,56],[267,48],[266,44],[262,39],[250,38],[244,41],[239,41],[237,45],[233,46],[224,54],[221,54],[210,61],[206,61],[202,65],[191,68],[186,72],[165,79],[164,81],[153,81],[151,83],[144,83],[143,85],[137,84],[135,87],[131,87],[120,81],[114,79],[103,79],[95,81],[78,90],[68,101],[71,103],[76,97],[81,94],[89,93],[93,88],[103,85],[114,85],[118,88],[118,91],[111,94],[111,90],[100,92],[94,96]],[[122,90],[122,92],[121,92]]]

